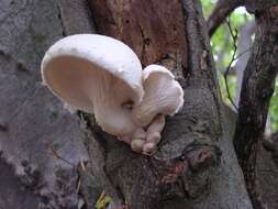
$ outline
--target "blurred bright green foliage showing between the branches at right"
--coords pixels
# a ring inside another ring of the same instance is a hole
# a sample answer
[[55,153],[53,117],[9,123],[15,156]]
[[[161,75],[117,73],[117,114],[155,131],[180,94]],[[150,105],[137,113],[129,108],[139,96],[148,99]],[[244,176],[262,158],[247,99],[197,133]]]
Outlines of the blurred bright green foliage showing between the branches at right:
[[[216,0],[201,0],[201,2],[203,7],[203,15],[207,19],[211,14]],[[233,29],[237,31],[240,31],[240,28],[242,25],[246,24],[246,22],[251,20],[253,20],[253,16],[249,15],[245,11],[244,8],[236,9],[230,15],[231,25]],[[214,35],[211,38],[211,47],[212,47],[213,57],[214,57],[216,68],[218,68],[219,82],[220,82],[223,100],[225,103],[231,106],[231,102],[227,99],[227,92],[225,90],[223,73],[232,59],[234,47],[233,47],[233,40],[226,24],[222,24],[218,29],[218,31],[214,33]],[[234,64],[235,62],[233,63],[233,65]],[[232,97],[235,98],[236,76],[230,75],[227,79],[227,84],[229,84],[229,89]],[[275,94],[270,102],[269,122],[270,122],[270,130],[278,131],[278,79],[276,80]]]

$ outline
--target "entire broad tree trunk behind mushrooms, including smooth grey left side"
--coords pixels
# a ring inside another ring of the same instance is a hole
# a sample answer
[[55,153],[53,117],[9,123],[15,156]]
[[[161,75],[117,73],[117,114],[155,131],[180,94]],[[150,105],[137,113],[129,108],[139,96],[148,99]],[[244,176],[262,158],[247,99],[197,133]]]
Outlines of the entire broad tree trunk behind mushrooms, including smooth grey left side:
[[[132,209],[252,209],[232,144],[234,113],[220,100],[199,2],[0,4],[0,168],[16,179],[0,184],[0,208],[92,208],[104,190]],[[101,132],[92,116],[79,113],[79,125],[41,86],[46,48],[96,31],[124,41],[144,66],[167,66],[184,88],[185,106],[167,118],[152,157]]]

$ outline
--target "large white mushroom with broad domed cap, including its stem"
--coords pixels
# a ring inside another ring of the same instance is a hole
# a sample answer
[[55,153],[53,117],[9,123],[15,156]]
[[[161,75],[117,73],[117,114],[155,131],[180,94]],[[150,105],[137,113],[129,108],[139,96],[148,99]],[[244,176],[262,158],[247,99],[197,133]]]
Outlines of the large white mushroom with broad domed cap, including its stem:
[[142,66],[124,43],[96,34],[67,36],[46,52],[42,76],[67,107],[94,113],[103,131],[129,144],[142,132],[131,117],[144,94]]

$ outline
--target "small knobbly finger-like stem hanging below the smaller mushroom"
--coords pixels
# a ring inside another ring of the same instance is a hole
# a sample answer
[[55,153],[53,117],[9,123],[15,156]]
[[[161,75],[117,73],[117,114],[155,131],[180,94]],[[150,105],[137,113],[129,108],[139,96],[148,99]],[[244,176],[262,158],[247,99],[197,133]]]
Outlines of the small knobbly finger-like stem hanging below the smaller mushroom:
[[157,114],[147,128],[146,143],[143,146],[144,154],[152,154],[162,139],[162,131],[165,125],[165,116]]

